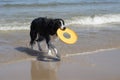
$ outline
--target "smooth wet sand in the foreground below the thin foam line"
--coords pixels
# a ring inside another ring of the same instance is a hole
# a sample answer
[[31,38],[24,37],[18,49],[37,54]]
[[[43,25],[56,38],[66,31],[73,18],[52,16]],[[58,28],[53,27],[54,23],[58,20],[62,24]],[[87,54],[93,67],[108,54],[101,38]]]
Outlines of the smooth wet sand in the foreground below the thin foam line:
[[0,66],[0,80],[120,80],[120,49],[64,57],[62,61],[24,60]]

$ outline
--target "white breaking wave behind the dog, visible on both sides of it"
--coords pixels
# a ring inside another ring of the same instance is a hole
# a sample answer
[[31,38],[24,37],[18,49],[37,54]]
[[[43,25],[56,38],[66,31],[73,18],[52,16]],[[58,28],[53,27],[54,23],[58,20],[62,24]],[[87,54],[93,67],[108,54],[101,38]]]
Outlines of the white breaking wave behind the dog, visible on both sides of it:
[[[66,26],[102,25],[102,24],[115,24],[115,23],[120,24],[120,14],[76,16],[65,19],[65,23]],[[30,21],[26,21],[23,23],[16,20],[12,20],[10,23],[6,23],[5,20],[0,20],[0,30],[29,30],[29,28],[30,28]]]

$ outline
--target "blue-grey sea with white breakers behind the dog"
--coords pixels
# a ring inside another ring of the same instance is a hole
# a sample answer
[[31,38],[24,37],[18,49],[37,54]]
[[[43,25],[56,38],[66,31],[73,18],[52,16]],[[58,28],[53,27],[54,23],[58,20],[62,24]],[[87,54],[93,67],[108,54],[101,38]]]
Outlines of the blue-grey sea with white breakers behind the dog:
[[0,31],[29,30],[38,17],[83,31],[120,30],[120,0],[0,0]]

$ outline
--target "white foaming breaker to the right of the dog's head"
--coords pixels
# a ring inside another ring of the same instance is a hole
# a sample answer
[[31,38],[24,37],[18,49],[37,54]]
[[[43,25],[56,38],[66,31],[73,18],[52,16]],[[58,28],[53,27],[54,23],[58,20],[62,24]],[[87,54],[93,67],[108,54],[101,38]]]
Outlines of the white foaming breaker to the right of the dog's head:
[[108,23],[119,23],[120,14],[104,14],[104,15],[93,15],[93,16],[76,16],[69,20],[66,20],[67,25],[80,24],[80,25],[96,25],[96,24],[108,24]]

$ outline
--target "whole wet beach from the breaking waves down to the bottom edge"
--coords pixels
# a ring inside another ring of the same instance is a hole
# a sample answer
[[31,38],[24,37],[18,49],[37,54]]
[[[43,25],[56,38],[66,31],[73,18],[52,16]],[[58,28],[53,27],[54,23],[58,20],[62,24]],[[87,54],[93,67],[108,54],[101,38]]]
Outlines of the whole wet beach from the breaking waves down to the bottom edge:
[[54,42],[62,59],[51,62],[29,48],[29,31],[1,31],[0,80],[120,80],[120,31],[74,30],[77,43]]

